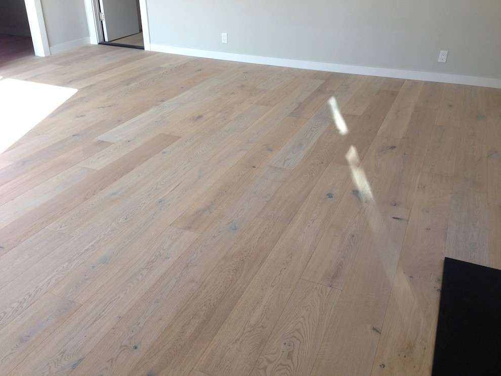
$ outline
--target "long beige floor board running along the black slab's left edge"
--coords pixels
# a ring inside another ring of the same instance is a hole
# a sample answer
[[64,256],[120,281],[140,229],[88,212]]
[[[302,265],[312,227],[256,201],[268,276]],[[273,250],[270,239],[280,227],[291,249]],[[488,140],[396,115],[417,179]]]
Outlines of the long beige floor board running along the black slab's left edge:
[[421,175],[372,374],[431,374],[451,187]]

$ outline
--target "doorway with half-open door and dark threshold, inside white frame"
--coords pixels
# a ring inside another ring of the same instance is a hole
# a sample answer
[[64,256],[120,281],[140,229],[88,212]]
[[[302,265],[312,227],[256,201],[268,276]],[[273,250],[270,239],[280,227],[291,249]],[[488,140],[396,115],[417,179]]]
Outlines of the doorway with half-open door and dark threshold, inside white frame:
[[139,0],[99,0],[99,8],[100,44],[144,49]]

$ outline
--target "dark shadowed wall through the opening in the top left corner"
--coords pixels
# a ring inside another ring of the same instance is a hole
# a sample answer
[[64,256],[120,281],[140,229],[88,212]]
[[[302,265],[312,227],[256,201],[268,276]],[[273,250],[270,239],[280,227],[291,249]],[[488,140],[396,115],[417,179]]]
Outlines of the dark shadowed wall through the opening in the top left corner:
[[24,0],[0,0],[0,33],[30,35]]

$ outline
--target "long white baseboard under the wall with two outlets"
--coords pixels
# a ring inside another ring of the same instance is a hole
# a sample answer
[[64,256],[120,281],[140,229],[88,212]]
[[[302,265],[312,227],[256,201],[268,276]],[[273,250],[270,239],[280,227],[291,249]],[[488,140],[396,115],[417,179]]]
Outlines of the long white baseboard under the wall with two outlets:
[[484,86],[484,87],[501,89],[501,79],[492,79],[486,77],[461,76],[459,74],[422,72],[417,70],[375,68],[375,67],[358,66],[358,65],[320,63],[316,61],[291,60],[291,59],[281,59],[275,57],[254,56],[254,55],[241,55],[227,52],[196,50],[191,48],[172,47],[172,46],[164,46],[156,44],[151,44],[150,47],[151,51],[165,52],[175,55],[204,57],[209,59],[238,61],[243,63],[275,65],[288,68],[322,70],[327,72],[362,74],[364,76],[379,76],[379,77],[389,77],[389,78],[406,79],[406,80],[443,82],[447,84]]

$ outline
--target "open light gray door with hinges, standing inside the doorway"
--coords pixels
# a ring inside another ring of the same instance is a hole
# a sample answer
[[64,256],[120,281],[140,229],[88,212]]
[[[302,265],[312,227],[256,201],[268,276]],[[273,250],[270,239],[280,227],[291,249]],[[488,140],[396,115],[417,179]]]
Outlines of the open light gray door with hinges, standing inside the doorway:
[[99,0],[106,42],[139,32],[136,0]]

